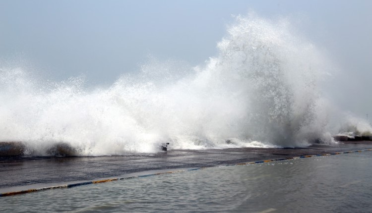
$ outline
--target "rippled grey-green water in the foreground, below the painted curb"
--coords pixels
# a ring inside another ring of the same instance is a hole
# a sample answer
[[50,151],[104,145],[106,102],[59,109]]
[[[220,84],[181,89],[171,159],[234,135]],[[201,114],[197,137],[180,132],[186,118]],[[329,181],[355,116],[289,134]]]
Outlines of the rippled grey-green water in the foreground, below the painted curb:
[[1,212],[369,212],[372,152],[53,189],[0,198]]

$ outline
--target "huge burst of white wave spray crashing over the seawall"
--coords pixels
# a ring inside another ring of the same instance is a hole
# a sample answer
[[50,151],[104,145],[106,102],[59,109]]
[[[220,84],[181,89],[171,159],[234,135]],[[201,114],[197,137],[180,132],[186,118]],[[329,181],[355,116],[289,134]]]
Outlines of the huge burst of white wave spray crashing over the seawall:
[[318,83],[330,64],[286,20],[238,16],[206,64],[152,58],[136,76],[86,89],[82,77],[46,83],[0,70],[0,141],[30,155],[66,143],[81,156],[170,149],[303,147],[331,142]]

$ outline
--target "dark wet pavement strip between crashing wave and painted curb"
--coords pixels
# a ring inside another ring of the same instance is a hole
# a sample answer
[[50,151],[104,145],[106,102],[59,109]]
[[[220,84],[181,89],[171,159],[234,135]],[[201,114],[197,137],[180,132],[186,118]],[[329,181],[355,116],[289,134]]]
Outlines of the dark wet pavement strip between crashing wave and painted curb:
[[296,149],[169,150],[135,156],[3,158],[0,159],[0,193],[33,186],[123,177],[136,172],[210,167],[371,148],[371,141],[359,141]]

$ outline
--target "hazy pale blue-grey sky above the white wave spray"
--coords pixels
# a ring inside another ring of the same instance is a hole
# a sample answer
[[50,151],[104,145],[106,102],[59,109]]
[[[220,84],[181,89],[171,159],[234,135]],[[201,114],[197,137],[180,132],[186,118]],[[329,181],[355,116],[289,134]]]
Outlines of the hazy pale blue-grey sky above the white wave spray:
[[82,73],[110,84],[149,54],[202,64],[217,54],[232,15],[249,11],[288,17],[341,68],[332,99],[372,114],[370,0],[0,0],[0,61],[27,61],[55,80]]

